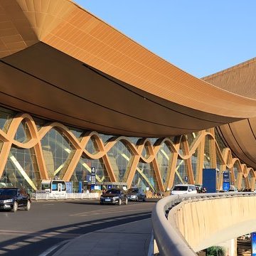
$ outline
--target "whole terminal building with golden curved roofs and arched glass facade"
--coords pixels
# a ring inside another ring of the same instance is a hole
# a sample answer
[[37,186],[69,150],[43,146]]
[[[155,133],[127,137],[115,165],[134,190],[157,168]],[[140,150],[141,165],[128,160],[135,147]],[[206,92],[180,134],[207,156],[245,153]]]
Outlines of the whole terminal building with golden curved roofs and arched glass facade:
[[255,189],[256,59],[203,79],[70,0],[0,0],[0,186]]

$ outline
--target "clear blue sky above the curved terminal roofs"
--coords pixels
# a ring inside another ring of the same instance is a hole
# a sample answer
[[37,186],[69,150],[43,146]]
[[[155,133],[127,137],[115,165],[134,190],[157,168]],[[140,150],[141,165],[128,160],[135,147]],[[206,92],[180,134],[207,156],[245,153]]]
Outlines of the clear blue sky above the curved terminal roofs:
[[256,57],[256,0],[74,0],[201,78]]

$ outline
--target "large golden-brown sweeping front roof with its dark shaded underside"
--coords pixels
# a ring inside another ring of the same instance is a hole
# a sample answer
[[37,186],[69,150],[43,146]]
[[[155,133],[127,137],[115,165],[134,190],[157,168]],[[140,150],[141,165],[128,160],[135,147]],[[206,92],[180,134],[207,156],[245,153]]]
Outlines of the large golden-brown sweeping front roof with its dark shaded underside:
[[83,129],[164,137],[256,115],[69,0],[0,0],[0,102]]

